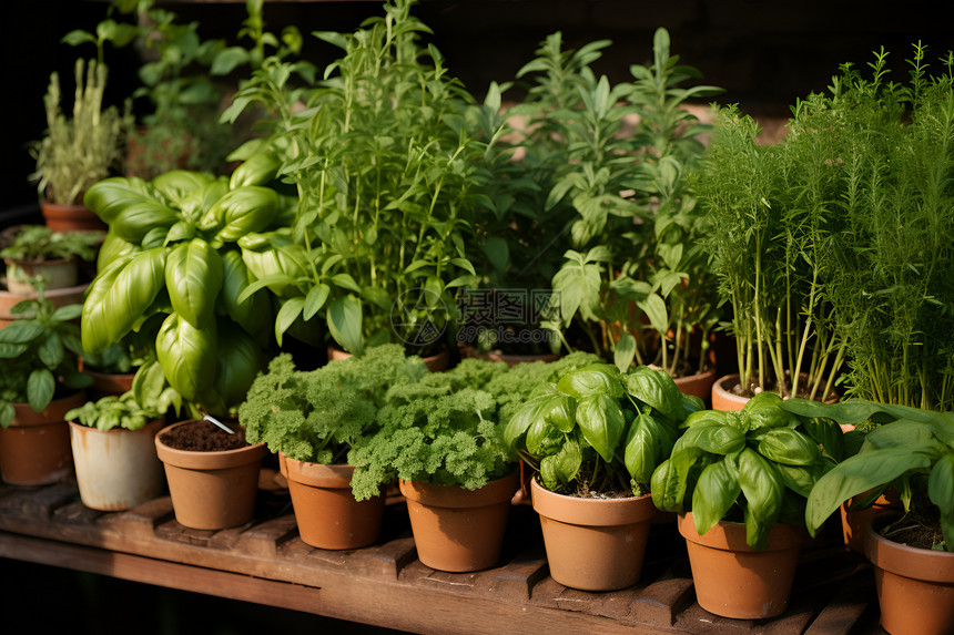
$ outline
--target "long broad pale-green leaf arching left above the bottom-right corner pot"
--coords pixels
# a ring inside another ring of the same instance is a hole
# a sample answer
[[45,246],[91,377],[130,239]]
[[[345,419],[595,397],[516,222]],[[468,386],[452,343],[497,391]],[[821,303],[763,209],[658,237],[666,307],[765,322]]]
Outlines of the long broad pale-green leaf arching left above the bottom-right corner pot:
[[[933,441],[933,440],[932,440]],[[818,480],[809,495],[805,526],[814,535],[818,528],[850,498],[891,483],[909,470],[931,465],[933,443],[905,448],[862,451],[835,465]]]

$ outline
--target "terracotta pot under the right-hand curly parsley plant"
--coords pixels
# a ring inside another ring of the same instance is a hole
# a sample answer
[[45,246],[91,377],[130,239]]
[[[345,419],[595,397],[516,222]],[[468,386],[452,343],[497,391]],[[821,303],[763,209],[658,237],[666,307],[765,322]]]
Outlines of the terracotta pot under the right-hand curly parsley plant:
[[479,571],[497,563],[510,499],[520,489],[519,472],[474,491],[403,479],[398,487],[407,499],[422,563],[449,572]]

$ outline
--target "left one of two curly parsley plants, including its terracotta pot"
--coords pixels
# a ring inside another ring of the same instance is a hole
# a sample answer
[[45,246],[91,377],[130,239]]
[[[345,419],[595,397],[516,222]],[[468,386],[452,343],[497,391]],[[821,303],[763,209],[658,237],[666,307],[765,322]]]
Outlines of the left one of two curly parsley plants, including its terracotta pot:
[[305,543],[358,549],[377,540],[385,496],[355,500],[347,452],[377,430],[388,389],[426,372],[420,358],[383,345],[312,371],[296,370],[283,354],[252,385],[238,420],[250,442],[264,441],[280,454]]

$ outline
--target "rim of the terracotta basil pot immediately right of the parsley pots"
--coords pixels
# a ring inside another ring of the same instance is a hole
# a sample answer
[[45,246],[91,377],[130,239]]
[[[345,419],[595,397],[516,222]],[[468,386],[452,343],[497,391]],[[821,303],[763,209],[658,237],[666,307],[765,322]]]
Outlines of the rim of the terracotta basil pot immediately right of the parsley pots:
[[657,515],[652,494],[626,499],[582,499],[558,494],[530,479],[534,510],[548,519],[581,526],[617,526],[650,522]]

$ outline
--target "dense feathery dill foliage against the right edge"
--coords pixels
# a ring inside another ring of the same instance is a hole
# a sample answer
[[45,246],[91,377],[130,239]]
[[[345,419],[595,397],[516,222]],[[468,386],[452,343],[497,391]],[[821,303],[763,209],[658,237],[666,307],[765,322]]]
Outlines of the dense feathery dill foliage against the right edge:
[[[915,44],[910,81],[842,66],[815,110],[841,167],[829,298],[849,339],[850,395],[954,408],[954,54],[930,73]],[[821,127],[821,126],[819,126]]]

